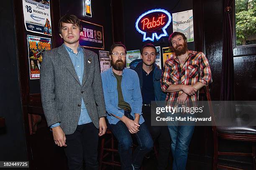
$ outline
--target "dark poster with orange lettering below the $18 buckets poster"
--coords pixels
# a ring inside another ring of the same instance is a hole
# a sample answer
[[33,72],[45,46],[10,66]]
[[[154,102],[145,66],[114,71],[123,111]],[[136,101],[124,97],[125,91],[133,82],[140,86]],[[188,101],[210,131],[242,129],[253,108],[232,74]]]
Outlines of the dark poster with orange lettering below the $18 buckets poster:
[[30,79],[39,79],[42,52],[51,50],[51,38],[28,35],[27,41]]

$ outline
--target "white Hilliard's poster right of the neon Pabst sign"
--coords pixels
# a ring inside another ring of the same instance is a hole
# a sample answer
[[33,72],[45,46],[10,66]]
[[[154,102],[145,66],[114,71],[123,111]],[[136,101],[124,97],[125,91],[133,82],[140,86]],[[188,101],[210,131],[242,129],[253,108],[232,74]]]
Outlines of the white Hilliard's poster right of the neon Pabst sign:
[[172,20],[173,32],[182,32],[187,37],[187,42],[193,42],[193,10],[173,13]]

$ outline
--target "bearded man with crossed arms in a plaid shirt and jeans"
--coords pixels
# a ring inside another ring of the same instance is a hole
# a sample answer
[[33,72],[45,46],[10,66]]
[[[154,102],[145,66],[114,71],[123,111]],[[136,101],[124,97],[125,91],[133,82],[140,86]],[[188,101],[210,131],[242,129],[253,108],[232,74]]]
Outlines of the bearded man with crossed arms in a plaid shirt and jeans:
[[[167,92],[167,105],[173,107],[196,102],[197,91],[212,82],[208,60],[202,52],[187,49],[187,38],[181,32],[173,32],[169,43],[174,53],[166,60],[161,79],[162,90]],[[175,124],[168,128],[174,158],[172,169],[185,170],[194,125]]]

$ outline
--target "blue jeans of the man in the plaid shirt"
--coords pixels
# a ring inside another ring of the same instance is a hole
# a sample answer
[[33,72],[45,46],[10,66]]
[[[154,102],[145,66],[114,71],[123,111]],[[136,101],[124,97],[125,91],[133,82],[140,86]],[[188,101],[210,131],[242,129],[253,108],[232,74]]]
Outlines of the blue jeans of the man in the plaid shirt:
[[172,124],[172,126],[168,126],[171,136],[172,156],[174,159],[172,170],[185,170],[187,164],[189,143],[194,133],[195,126],[191,123],[190,125],[186,125],[186,123],[176,123]]

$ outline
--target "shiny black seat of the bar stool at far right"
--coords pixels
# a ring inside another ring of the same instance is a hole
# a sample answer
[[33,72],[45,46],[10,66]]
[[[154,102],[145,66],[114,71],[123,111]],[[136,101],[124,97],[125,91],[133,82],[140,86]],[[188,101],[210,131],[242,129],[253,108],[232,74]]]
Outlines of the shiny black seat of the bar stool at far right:
[[219,133],[256,135],[256,126],[217,126],[217,130]]

